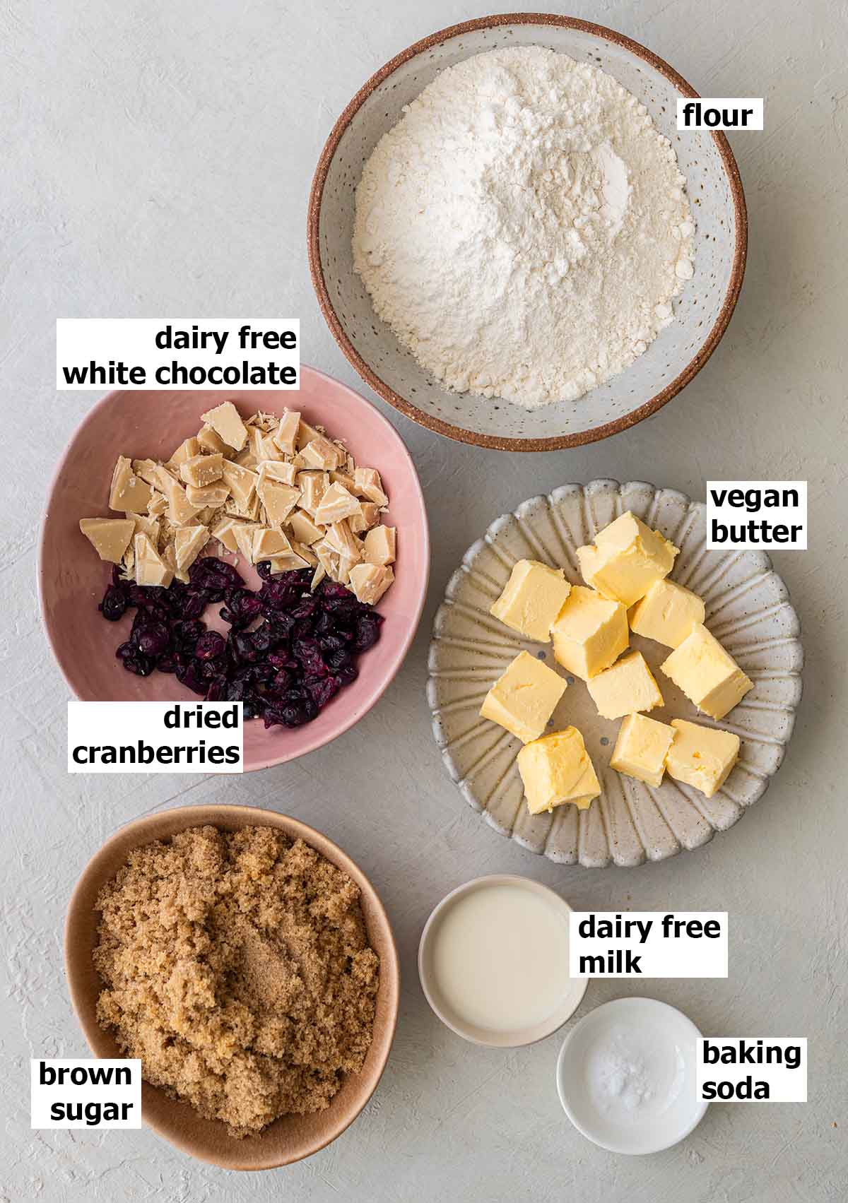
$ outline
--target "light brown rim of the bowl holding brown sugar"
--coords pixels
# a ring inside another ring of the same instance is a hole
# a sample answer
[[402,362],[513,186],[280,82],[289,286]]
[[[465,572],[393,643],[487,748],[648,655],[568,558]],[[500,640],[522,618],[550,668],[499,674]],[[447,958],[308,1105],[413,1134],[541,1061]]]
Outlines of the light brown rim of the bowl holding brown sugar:
[[[278,830],[283,830],[290,837],[303,838],[308,845],[310,845],[310,847],[315,848],[316,852],[319,852],[322,857],[326,857],[327,860],[331,860],[356,882],[360,887],[360,891],[367,895],[369,907],[376,918],[376,925],[383,930],[386,938],[387,956],[386,953],[380,956],[380,979],[383,980],[383,974],[385,972],[387,982],[389,1013],[387,1021],[381,1032],[381,1047],[378,1051],[378,1059],[370,1071],[373,1081],[363,1091],[362,1098],[356,1101],[351,1112],[343,1115],[342,1119],[337,1121],[332,1128],[330,1128],[328,1134],[324,1134],[320,1138],[306,1144],[303,1151],[298,1151],[296,1156],[280,1158],[279,1154],[275,1154],[261,1161],[261,1163],[245,1162],[243,1157],[238,1156],[238,1148],[241,1145],[241,1142],[238,1140],[232,1142],[232,1157],[226,1161],[224,1158],[212,1158],[206,1154],[198,1152],[197,1149],[192,1146],[191,1140],[183,1137],[182,1132],[174,1133],[166,1125],[144,1116],[143,1094],[146,1090],[156,1090],[159,1088],[152,1086],[147,1081],[142,1083],[143,1125],[152,1128],[158,1136],[162,1137],[168,1144],[178,1149],[180,1152],[186,1152],[200,1161],[219,1166],[223,1169],[275,1169],[279,1166],[292,1165],[296,1161],[302,1161],[304,1157],[310,1157],[314,1152],[326,1148],[326,1145],[350,1127],[354,1120],[360,1116],[366,1107],[366,1103],[368,1103],[376,1090],[380,1078],[386,1068],[392,1043],[395,1041],[401,1005],[401,962],[397,943],[395,941],[395,932],[392,931],[392,925],[389,920],[386,908],[384,907],[383,900],[380,899],[376,889],[364,871],[360,869],[356,861],[349,857],[343,848],[331,840],[330,836],[325,835],[322,831],[318,831],[315,828],[309,826],[301,819],[296,819],[290,814],[283,814],[279,811],[269,811],[257,806],[219,806],[215,804],[174,806],[164,811],[155,811],[152,814],[142,814],[135,819],[130,819],[128,823],[124,823],[115,831],[113,831],[112,835],[89,858],[85,867],[77,878],[73,890],[71,891],[63,930],[65,977],[67,980],[67,992],[71,1000],[71,1006],[82,1029],[83,1036],[85,1037],[85,1043],[95,1057],[113,1055],[109,1051],[105,1053],[102,1050],[103,1042],[112,1039],[112,1037],[103,1032],[94,1018],[94,1014],[91,1014],[83,1005],[82,980],[85,972],[85,967],[83,965],[84,958],[79,955],[78,949],[73,948],[77,925],[82,920],[83,914],[90,913],[90,896],[87,896],[87,894],[89,894],[93,883],[97,882],[97,888],[100,888],[100,884],[107,879],[107,877],[102,876],[102,863],[109,852],[121,851],[124,853],[129,853],[132,848],[143,847],[143,843],[150,843],[153,840],[165,838],[170,835],[174,835],[177,831],[184,831],[192,826],[202,826],[204,824],[214,826],[223,819],[233,822],[235,825],[232,829],[236,829],[237,826],[272,826]],[[136,832],[140,828],[149,826],[150,824],[154,824],[154,826],[166,828],[167,830],[164,830],[161,834],[149,834],[142,842],[138,840],[134,841],[134,832]],[[101,879],[99,881],[99,878]],[[184,1106],[188,1107],[189,1104],[184,1103]],[[265,1131],[267,1132],[268,1130],[266,1128]],[[263,1134],[265,1133],[262,1133],[257,1139],[261,1140]]]

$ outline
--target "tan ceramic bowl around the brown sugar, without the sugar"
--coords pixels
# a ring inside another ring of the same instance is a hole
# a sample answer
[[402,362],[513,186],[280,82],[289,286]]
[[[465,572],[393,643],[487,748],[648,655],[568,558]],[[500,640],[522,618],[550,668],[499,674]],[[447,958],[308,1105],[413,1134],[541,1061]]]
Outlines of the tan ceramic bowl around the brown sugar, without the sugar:
[[128,823],[91,858],[71,895],[65,921],[67,985],[73,1009],[94,1055],[121,1056],[112,1036],[95,1019],[95,1006],[102,989],[91,962],[99,921],[95,900],[100,888],[114,877],[132,848],[203,824],[227,831],[242,826],[273,826],[291,838],[303,838],[358,885],[368,940],[380,958],[374,1036],[366,1063],[361,1073],[345,1079],[326,1110],[313,1115],[284,1115],[260,1136],[235,1140],[227,1136],[219,1120],[202,1119],[188,1103],[168,1098],[164,1091],[148,1083],[142,1084],[144,1122],[177,1149],[224,1169],[273,1169],[318,1152],[354,1122],[380,1080],[397,1023],[401,973],[389,918],[362,870],[326,835],[286,814],[250,806],[182,806]]

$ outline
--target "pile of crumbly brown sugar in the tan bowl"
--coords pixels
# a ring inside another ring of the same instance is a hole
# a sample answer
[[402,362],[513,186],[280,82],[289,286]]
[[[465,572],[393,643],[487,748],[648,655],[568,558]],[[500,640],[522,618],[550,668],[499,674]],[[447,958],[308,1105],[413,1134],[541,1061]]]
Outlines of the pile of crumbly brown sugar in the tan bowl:
[[97,909],[100,1025],[231,1136],[321,1110],[362,1068],[379,959],[358,888],[302,840],[182,831],[136,848]]

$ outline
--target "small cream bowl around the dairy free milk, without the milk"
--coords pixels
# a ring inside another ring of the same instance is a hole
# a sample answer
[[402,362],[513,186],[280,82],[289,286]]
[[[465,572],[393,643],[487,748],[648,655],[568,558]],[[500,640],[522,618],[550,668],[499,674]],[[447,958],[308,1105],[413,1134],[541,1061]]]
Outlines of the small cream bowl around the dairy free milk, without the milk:
[[568,902],[546,885],[541,885],[529,877],[518,877],[511,873],[492,873],[487,877],[475,877],[474,881],[465,882],[464,885],[458,885],[450,894],[446,894],[441,902],[433,909],[433,913],[425,924],[425,929],[421,932],[421,942],[419,943],[419,977],[427,1002],[441,1023],[446,1027],[450,1027],[452,1032],[456,1032],[457,1036],[470,1041],[472,1044],[485,1044],[488,1048],[517,1048],[521,1044],[533,1044],[536,1041],[541,1041],[552,1032],[556,1032],[558,1027],[562,1027],[580,1006],[586,994],[587,982],[585,978],[573,978],[559,1006],[550,1015],[539,1023],[520,1029],[493,1031],[488,1027],[481,1027],[469,1023],[447,1003],[439,989],[437,974],[433,968],[433,947],[439,924],[446,912],[461,899],[467,897],[476,890],[488,889],[493,885],[518,885],[522,889],[545,897],[562,912],[565,918],[567,935],[561,955],[568,961],[568,915],[571,913],[571,907]]

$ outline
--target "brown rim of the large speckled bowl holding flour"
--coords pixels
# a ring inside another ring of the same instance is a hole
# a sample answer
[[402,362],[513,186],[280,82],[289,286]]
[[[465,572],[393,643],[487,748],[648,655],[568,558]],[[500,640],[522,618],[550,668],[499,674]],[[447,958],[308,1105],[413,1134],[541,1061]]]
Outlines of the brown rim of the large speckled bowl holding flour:
[[427,414],[417,405],[407,401],[405,397],[402,397],[383,379],[380,379],[374,369],[362,358],[336,314],[333,302],[330,298],[330,291],[324,278],[324,267],[321,265],[319,244],[324,186],[330,172],[330,165],[336,155],[336,150],[338,149],[345,130],[368,96],[384,82],[384,79],[387,79],[389,76],[397,71],[397,69],[404,63],[408,63],[417,54],[431,49],[433,46],[438,46],[452,37],[458,37],[479,29],[491,29],[498,25],[557,25],[563,29],[577,29],[582,32],[603,37],[606,41],[615,42],[616,45],[623,47],[631,54],[635,54],[636,58],[642,59],[660,75],[665,76],[665,78],[674,84],[681,95],[689,97],[698,97],[699,95],[692,84],[688,83],[682,75],[680,75],[680,72],[675,71],[672,66],[670,66],[664,59],[659,58],[658,54],[654,54],[653,51],[647,49],[647,47],[642,46],[640,42],[635,42],[631,37],[627,37],[624,34],[619,34],[616,30],[610,29],[607,25],[599,25],[591,20],[581,20],[577,17],[563,17],[558,13],[506,12],[496,13],[490,17],[478,17],[473,20],[463,20],[456,25],[447,25],[445,29],[440,29],[434,34],[429,34],[427,37],[420,38],[417,42],[413,42],[411,46],[401,51],[384,66],[381,66],[379,71],[374,72],[374,75],[360,88],[352,100],[349,101],[343,109],[342,115],[330,131],[330,136],[327,137],[318,160],[312,188],[309,190],[309,206],[307,213],[309,273],[312,275],[313,288],[315,289],[315,295],[318,296],[318,303],[321,308],[321,313],[324,314],[324,319],[327,322],[333,338],[342,349],[342,352],[358,372],[366,384],[368,384],[379,397],[383,397],[383,399],[389,402],[390,405],[393,405],[395,409],[399,409],[402,414],[405,414],[407,417],[411,417],[414,422],[419,422],[421,426],[426,426],[428,429],[435,431],[438,434],[444,434],[447,438],[456,439],[459,443],[470,443],[474,446],[490,448],[496,451],[561,451],[565,448],[597,443],[599,439],[605,439],[611,434],[618,434],[621,431],[629,429],[644,419],[656,414],[658,409],[662,409],[663,405],[671,401],[672,397],[676,397],[677,393],[698,375],[700,369],[718,346],[718,343],[728,328],[742,289],[742,278],[745,277],[748,248],[748,213],[745,203],[742,179],[736,165],[736,159],[730,149],[730,143],[724,134],[711,130],[710,134],[716,143],[716,148],[718,149],[718,154],[728,178],[734,206],[736,241],[734,245],[734,259],[730,269],[730,279],[728,282],[728,290],[724,295],[722,307],[712,328],[683,371],[670,384],[668,384],[664,389],[656,393],[656,396],[651,397],[638,409],[634,409],[628,414],[622,414],[622,416],[615,419],[615,421],[605,422],[603,426],[595,426],[592,429],[577,431],[570,434],[557,434],[552,438],[545,439],[517,439],[502,438],[500,435],[494,434],[482,434],[476,431],[467,431],[461,426],[453,426],[450,422],[445,422],[440,417],[434,417],[432,414]]

